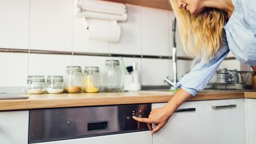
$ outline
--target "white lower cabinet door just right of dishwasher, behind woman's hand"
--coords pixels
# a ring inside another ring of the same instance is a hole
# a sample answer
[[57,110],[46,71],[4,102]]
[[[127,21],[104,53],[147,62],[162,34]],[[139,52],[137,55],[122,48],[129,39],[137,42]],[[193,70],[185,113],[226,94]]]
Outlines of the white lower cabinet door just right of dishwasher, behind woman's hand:
[[[164,103],[153,104],[153,108],[164,106]],[[154,144],[199,144],[200,123],[202,115],[198,112],[198,102],[187,102],[178,108],[165,126],[153,135]],[[193,110],[195,108],[195,110]],[[182,112],[183,111],[183,112]]]

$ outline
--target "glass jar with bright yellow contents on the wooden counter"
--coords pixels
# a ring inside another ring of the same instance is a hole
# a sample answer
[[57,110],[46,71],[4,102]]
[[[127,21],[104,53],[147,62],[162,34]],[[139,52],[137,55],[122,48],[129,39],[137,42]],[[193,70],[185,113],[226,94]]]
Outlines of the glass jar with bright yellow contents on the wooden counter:
[[100,73],[98,67],[85,67],[85,92],[98,92],[100,90]]

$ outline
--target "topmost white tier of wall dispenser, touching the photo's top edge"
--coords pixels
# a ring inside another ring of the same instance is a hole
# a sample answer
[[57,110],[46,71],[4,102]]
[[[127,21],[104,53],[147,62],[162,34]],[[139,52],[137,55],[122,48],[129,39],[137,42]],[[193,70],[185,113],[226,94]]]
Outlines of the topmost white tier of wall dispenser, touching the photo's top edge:
[[111,2],[111,1],[80,0],[78,2],[86,4],[86,5],[99,5],[99,6],[107,6],[107,7],[113,7],[113,8],[126,9],[126,6],[123,3],[115,3],[115,2]]

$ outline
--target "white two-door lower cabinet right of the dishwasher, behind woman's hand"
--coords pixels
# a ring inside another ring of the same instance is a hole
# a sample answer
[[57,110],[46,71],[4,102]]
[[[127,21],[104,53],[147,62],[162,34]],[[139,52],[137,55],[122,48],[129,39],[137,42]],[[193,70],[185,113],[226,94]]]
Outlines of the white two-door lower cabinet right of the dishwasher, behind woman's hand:
[[[153,104],[153,108],[163,105]],[[196,111],[173,114],[164,129],[154,134],[154,144],[246,143],[244,99],[186,102],[180,108]]]

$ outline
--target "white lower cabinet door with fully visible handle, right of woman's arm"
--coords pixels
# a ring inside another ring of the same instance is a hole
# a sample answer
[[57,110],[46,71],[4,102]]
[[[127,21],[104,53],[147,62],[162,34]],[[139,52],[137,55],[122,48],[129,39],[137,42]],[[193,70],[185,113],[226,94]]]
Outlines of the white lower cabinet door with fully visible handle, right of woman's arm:
[[244,99],[204,101],[202,105],[203,143],[246,143]]

